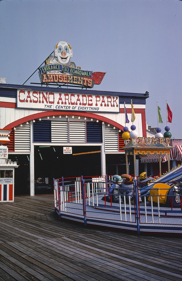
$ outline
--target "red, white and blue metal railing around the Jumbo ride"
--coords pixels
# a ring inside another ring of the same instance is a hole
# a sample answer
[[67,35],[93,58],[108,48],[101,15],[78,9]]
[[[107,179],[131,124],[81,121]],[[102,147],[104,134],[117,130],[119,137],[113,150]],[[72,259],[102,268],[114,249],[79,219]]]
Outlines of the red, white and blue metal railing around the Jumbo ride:
[[[111,180],[111,178],[109,178]],[[54,180],[54,207],[60,218],[63,214],[74,215],[80,218],[86,225],[89,219],[99,219],[107,224],[107,221],[134,224],[137,233],[140,226],[169,225],[182,226],[182,198],[178,208],[174,208],[173,200],[176,195],[165,195],[171,200],[170,206],[160,203],[161,195],[147,193],[140,198],[140,190],[137,180],[133,183],[133,194],[122,194],[122,188],[116,188],[118,203],[113,201],[113,193],[110,187],[113,183],[107,177],[91,177],[83,179],[77,177],[73,180],[63,178]],[[174,184],[174,182],[173,182]],[[166,189],[166,188],[165,188]],[[170,189],[170,187],[169,187]],[[108,202],[108,196],[110,200]],[[142,199],[142,200],[141,200]],[[150,199],[150,201],[148,200]],[[170,201],[168,200],[168,201]],[[121,225],[122,228],[122,225]]]

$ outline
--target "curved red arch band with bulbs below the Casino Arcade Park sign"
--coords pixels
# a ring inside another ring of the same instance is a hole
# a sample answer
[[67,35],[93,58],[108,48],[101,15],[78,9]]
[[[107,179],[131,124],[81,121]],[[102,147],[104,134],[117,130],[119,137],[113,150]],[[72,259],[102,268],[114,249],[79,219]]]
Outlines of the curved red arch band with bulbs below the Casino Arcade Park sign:
[[98,114],[95,113],[89,113],[89,112],[70,112],[70,111],[44,111],[44,112],[39,112],[39,113],[35,113],[35,114],[31,114],[28,115],[26,117],[20,118],[10,124],[8,124],[7,126],[4,127],[4,129],[9,129],[11,130],[12,128],[18,126],[19,124],[22,124],[24,122],[30,121],[30,120],[34,120],[37,118],[41,118],[41,117],[46,117],[46,116],[56,116],[56,115],[74,115],[74,116],[82,116],[82,117],[88,117],[88,118],[93,118],[105,123],[108,123],[110,125],[112,125],[113,127],[116,127],[120,130],[123,131],[123,126],[109,118],[100,116]]

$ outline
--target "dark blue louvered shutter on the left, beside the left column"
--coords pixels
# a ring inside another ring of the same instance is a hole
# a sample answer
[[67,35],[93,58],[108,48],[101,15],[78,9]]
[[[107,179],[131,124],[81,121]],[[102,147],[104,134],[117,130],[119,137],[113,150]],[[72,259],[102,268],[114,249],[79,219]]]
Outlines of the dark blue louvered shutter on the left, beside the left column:
[[33,123],[34,141],[51,142],[51,121],[42,120]]

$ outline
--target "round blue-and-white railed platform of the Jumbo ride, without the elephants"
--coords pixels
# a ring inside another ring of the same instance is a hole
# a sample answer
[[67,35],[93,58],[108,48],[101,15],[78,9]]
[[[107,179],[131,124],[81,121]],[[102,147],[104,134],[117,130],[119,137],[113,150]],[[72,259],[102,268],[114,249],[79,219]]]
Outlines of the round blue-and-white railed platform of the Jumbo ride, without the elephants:
[[[67,219],[84,223],[84,225],[103,226],[121,231],[134,233],[174,233],[182,235],[182,194],[179,196],[177,206],[165,206],[160,203],[161,194],[152,195],[150,206],[147,198],[150,189],[156,183],[170,184],[182,180],[182,165],[169,171],[164,176],[153,180],[148,186],[140,189],[144,202],[139,202],[137,180],[133,183],[134,201],[132,195],[119,194],[119,203],[107,202],[106,196],[110,192],[113,181],[104,180],[103,177],[84,180],[77,178],[75,182],[64,182],[63,178],[54,180],[54,206],[60,219]],[[166,189],[165,185],[165,189]],[[71,187],[71,189],[70,189]],[[121,188],[122,189],[122,188]],[[131,187],[130,187],[131,189]],[[105,200],[104,200],[105,197]],[[176,195],[166,196],[175,200]],[[112,197],[111,197],[112,198]],[[123,199],[123,201],[122,201]],[[178,206],[179,205],[179,206]]]

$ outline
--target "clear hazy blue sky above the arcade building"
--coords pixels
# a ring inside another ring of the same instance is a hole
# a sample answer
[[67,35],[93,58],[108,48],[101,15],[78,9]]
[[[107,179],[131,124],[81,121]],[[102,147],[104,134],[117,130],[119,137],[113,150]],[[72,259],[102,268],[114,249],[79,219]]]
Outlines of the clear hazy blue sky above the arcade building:
[[[182,1],[2,0],[0,77],[23,84],[59,41],[72,61],[106,75],[94,90],[145,93],[146,121],[158,126],[157,102],[170,132],[182,139]],[[38,73],[26,83],[40,82]]]

